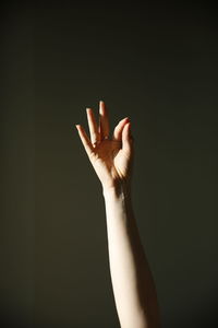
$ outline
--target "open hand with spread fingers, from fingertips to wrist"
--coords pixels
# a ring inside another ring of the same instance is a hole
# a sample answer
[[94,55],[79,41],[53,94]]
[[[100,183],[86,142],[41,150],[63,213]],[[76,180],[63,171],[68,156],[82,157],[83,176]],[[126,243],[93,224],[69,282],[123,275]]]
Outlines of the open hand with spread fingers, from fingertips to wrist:
[[133,164],[133,138],[128,117],[119,121],[109,140],[108,110],[99,102],[99,126],[92,108],[86,108],[90,139],[84,128],[76,125],[81,141],[104,189],[119,183],[130,183]]

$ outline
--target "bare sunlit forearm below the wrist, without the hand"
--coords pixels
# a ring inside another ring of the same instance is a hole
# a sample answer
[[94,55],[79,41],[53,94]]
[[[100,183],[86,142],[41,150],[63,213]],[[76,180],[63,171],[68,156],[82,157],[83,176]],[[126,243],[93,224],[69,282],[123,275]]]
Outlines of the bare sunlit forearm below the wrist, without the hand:
[[109,265],[122,328],[159,327],[155,284],[125,185],[104,189]]

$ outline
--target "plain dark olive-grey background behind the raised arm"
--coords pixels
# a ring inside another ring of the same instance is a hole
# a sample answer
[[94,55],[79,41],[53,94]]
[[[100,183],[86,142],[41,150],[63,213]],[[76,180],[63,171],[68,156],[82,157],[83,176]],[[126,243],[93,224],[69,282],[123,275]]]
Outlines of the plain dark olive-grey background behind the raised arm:
[[119,327],[101,187],[75,129],[100,99],[111,129],[132,121],[162,327],[217,327],[215,9],[8,1],[0,15],[1,327]]

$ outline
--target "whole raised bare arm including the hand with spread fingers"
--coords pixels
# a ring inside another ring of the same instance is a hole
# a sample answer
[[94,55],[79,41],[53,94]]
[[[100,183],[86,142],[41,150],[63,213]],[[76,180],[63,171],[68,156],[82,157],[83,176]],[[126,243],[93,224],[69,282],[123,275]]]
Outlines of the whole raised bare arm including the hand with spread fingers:
[[109,265],[120,326],[159,328],[156,288],[132,207],[134,141],[130,119],[120,120],[110,139],[105,103],[99,102],[99,124],[92,108],[86,108],[86,115],[89,138],[81,125],[76,128],[102,186]]

